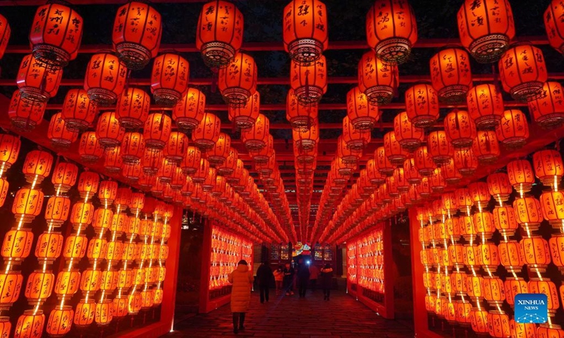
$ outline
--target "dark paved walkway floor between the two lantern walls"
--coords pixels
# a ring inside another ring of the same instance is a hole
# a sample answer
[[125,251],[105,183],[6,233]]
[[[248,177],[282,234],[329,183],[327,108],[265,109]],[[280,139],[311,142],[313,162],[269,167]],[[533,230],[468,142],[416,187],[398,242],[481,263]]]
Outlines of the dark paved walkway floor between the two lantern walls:
[[245,332],[236,336],[231,310],[226,305],[176,323],[175,332],[164,337],[413,337],[413,330],[406,322],[381,318],[344,292],[333,291],[331,301],[323,300],[321,290],[313,294],[308,291],[305,299],[300,299],[298,292],[278,297],[273,293],[268,303],[261,304],[258,292],[252,292]]

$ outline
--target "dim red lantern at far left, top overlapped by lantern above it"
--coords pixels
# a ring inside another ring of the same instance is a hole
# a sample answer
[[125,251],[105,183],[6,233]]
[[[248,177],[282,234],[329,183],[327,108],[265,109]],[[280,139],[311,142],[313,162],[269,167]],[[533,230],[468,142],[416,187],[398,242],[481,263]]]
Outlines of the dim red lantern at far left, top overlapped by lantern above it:
[[17,130],[29,132],[42,123],[46,106],[43,102],[26,101],[22,92],[16,90],[8,107],[8,117]]

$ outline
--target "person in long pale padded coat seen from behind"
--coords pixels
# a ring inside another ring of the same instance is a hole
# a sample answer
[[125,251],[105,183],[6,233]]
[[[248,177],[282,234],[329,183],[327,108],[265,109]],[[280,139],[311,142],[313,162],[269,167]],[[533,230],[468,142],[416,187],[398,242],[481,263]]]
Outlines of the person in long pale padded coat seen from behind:
[[252,271],[249,270],[247,261],[240,260],[237,268],[227,276],[231,288],[231,312],[233,313],[233,333],[245,330],[245,313],[249,310],[252,288]]

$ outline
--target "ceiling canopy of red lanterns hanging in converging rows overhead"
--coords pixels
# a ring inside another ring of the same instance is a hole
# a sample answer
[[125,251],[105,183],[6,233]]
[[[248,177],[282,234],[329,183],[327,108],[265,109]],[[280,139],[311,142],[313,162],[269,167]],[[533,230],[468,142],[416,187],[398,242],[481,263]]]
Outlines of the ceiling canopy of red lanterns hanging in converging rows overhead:
[[4,127],[266,242],[342,241],[560,130],[560,1],[354,2],[0,0]]

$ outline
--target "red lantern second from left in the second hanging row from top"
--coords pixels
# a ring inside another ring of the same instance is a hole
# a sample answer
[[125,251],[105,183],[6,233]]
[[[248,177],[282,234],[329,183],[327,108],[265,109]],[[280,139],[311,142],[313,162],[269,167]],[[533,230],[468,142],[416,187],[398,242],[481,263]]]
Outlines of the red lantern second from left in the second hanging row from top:
[[90,100],[109,106],[123,92],[127,73],[125,65],[114,54],[94,54],[86,67],[84,89]]

